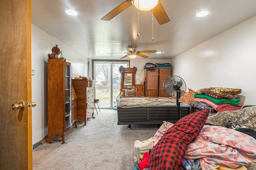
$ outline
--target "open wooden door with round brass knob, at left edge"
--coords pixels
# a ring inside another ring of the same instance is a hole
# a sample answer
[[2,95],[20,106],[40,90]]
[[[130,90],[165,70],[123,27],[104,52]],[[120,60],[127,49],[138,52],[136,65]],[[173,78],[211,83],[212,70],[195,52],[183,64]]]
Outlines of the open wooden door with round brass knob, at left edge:
[[[31,2],[0,1],[0,169],[32,169]],[[12,104],[24,103],[24,110]]]

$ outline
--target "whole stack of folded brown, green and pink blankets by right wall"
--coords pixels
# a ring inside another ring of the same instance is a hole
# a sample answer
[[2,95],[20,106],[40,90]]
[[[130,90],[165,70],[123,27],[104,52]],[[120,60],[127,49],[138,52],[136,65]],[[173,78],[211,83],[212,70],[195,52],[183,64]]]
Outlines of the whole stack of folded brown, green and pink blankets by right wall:
[[202,88],[194,94],[194,101],[208,104],[216,111],[232,111],[242,108],[237,94],[242,92],[238,88]]

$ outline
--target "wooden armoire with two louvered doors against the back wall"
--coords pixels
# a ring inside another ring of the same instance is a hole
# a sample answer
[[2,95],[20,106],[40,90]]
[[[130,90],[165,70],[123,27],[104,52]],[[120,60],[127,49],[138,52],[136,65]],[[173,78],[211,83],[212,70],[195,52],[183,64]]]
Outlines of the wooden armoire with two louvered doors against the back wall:
[[145,70],[145,96],[147,97],[169,97],[164,92],[164,80],[172,75],[170,68],[156,68]]

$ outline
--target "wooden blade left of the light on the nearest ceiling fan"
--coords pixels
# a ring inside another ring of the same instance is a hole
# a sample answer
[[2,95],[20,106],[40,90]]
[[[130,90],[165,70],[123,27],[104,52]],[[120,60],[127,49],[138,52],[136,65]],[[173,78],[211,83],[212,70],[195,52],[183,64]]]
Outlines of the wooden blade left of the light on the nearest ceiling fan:
[[114,10],[110,11],[108,14],[106,14],[104,17],[102,17],[100,20],[109,21],[112,20],[115,16],[126,10],[132,6],[132,2],[130,0],[124,1],[122,4],[120,4],[118,7],[116,7]]

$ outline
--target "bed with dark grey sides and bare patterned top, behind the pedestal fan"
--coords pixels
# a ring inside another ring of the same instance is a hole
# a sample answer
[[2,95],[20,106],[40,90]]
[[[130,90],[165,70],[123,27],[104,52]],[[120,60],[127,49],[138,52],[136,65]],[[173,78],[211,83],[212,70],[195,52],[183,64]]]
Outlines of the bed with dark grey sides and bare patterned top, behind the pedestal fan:
[[163,97],[120,98],[117,105],[118,125],[175,123],[189,114],[189,105],[180,103],[177,113],[176,100]]

